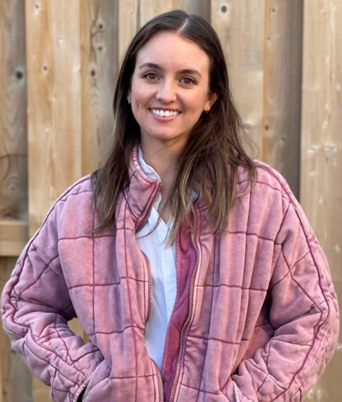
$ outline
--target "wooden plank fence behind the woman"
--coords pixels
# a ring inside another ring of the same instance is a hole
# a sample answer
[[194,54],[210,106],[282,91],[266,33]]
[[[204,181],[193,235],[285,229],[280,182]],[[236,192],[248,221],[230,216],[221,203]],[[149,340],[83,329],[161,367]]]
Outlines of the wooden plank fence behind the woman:
[[[179,8],[219,33],[257,156],[299,197],[341,298],[341,0],[0,0],[1,287],[51,203],[105,154],[130,38]],[[49,401],[2,332],[0,347],[0,402]],[[341,358],[339,344],[307,401],[341,401]]]

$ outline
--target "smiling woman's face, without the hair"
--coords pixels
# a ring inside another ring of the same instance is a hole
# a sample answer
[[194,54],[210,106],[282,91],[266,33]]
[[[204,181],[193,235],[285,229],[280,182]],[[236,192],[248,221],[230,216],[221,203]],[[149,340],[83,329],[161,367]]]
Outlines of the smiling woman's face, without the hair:
[[184,146],[216,94],[209,90],[209,58],[175,32],[157,33],[137,55],[130,94],[144,146]]

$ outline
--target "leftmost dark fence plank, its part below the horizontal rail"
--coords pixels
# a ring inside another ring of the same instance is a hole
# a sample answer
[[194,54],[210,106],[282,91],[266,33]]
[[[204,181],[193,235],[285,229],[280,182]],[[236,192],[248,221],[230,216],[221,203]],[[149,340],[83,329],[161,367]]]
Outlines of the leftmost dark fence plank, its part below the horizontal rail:
[[[9,279],[16,258],[0,257],[0,289]],[[11,350],[9,337],[0,328],[1,402],[31,402],[31,374],[24,359]]]

